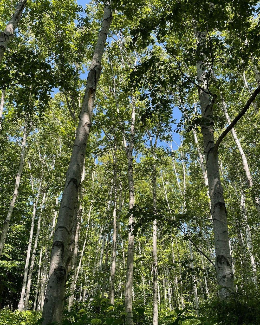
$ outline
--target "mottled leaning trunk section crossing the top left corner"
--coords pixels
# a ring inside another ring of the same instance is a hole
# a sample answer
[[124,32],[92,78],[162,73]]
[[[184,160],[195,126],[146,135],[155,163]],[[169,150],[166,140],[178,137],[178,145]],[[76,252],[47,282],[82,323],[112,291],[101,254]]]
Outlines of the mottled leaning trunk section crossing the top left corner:
[[14,36],[15,29],[19,23],[21,14],[26,5],[27,0],[20,0],[15,9],[14,15],[6,25],[3,32],[0,33],[0,63],[2,62],[3,56],[6,51],[6,47]]

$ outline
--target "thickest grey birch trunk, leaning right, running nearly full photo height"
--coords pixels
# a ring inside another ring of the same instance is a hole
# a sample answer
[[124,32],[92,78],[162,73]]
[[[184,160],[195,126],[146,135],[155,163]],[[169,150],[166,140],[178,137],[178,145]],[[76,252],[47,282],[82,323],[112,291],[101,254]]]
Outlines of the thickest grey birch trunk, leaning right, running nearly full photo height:
[[111,20],[110,3],[106,3],[104,6],[101,31],[98,34],[97,45],[87,77],[85,96],[82,110],[79,115],[77,134],[74,141],[53,239],[49,279],[42,315],[44,318],[43,325],[53,321],[60,322],[62,317],[73,212],[77,201],[78,188],[81,182],[86,143],[93,115],[96,87],[101,73],[101,59],[106,45]]

